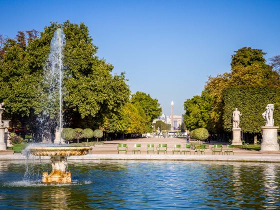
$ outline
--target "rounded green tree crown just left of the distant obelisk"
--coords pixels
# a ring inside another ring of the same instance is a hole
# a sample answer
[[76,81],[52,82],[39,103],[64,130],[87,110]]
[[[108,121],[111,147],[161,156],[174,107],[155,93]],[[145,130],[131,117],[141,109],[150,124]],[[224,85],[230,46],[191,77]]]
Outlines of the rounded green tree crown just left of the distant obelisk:
[[131,103],[136,105],[139,109],[143,109],[145,117],[147,119],[147,126],[150,127],[152,120],[157,118],[161,114],[161,107],[157,99],[152,98],[149,94],[137,91],[131,96]]

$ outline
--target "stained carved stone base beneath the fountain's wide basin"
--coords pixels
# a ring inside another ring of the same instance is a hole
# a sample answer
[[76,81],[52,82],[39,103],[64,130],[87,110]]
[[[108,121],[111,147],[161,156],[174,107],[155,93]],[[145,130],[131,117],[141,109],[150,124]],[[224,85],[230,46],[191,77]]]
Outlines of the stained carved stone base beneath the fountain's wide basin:
[[48,174],[42,173],[43,183],[71,183],[71,172],[66,171],[67,157],[52,156],[50,157],[52,170]]

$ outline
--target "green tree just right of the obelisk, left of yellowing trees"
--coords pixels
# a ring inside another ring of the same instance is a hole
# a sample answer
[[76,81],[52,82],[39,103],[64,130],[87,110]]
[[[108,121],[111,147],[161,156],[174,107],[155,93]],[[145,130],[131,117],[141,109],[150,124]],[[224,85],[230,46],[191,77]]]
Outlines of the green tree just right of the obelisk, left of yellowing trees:
[[201,96],[193,96],[184,102],[184,124],[187,129],[195,129],[204,127],[211,129],[209,122],[210,111],[212,108],[212,97],[205,91],[202,91]]

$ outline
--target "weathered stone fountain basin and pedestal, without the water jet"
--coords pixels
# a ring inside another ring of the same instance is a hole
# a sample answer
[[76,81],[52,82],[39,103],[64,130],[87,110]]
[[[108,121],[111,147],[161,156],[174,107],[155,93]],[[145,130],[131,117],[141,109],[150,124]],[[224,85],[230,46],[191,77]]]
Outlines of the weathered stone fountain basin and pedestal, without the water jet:
[[52,170],[49,174],[42,173],[43,183],[71,183],[71,172],[66,171],[67,156],[85,155],[91,149],[89,146],[34,146],[30,147],[29,151],[36,156],[50,156]]

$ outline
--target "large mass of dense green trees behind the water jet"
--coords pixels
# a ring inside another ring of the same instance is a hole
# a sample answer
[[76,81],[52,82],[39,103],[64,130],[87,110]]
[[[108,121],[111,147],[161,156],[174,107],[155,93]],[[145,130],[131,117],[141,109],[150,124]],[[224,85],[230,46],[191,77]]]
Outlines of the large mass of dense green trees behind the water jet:
[[44,28],[40,37],[35,30],[19,31],[15,39],[4,41],[1,36],[0,101],[5,102],[4,115],[20,120],[24,127],[33,127],[34,131],[38,127],[37,117],[47,111],[47,97],[41,94],[43,72],[48,62],[51,38],[55,29],[61,27],[66,38],[63,60],[64,122],[70,126],[71,122],[78,124],[83,121],[91,127],[98,127],[105,117],[118,114],[129,100],[130,90],[124,73],[112,75],[113,66],[95,55],[97,47],[92,44],[84,23],[52,22]]

